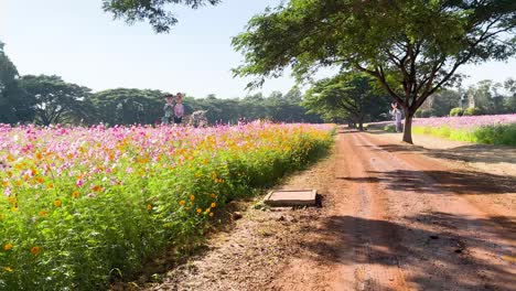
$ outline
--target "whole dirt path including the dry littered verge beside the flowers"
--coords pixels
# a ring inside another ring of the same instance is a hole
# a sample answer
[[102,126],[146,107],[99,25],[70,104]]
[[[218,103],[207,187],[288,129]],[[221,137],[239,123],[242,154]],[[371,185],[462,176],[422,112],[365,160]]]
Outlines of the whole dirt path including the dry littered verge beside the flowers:
[[344,132],[286,182],[323,208],[250,209],[149,290],[516,290],[516,180]]

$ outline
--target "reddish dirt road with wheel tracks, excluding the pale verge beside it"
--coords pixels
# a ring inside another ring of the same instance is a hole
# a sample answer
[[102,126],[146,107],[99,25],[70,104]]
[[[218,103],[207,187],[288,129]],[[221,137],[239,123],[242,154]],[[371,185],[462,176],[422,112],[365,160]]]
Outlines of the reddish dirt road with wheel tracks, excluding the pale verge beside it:
[[516,181],[343,132],[330,214],[268,290],[516,290]]

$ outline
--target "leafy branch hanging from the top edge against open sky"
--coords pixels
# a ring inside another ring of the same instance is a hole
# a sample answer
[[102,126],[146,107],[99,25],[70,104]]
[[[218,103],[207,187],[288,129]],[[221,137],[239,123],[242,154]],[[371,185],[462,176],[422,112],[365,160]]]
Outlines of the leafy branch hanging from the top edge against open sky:
[[103,8],[115,19],[123,19],[132,24],[149,21],[155,32],[169,32],[178,19],[169,11],[169,4],[183,4],[193,9],[204,4],[217,4],[221,0],[103,0]]

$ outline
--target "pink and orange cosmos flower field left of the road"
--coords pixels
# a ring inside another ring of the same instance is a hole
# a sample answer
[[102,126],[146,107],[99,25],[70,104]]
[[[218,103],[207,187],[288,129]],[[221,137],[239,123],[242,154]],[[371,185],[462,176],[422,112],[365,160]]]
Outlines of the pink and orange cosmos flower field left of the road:
[[327,125],[0,126],[0,289],[99,290],[333,142]]

